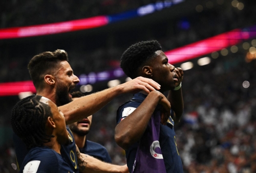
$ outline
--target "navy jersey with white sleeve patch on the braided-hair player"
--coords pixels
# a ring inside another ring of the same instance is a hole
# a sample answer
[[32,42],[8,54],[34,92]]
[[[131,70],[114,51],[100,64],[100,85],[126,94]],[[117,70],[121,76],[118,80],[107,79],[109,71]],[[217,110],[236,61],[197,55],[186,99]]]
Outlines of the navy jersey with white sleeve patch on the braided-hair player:
[[24,158],[20,173],[73,173],[60,154],[47,146],[34,147]]

